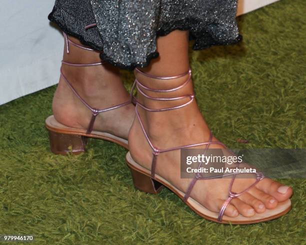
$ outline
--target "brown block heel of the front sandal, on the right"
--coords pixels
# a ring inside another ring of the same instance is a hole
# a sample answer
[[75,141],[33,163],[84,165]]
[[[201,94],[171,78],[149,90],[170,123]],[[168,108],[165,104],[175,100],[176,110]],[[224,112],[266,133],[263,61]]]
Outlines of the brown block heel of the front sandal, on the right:
[[131,167],[129,167],[129,169],[130,169],[130,173],[133,178],[133,184],[136,189],[139,189],[141,191],[151,193],[151,194],[157,194],[163,188],[163,185],[161,183],[152,179],[151,177]]

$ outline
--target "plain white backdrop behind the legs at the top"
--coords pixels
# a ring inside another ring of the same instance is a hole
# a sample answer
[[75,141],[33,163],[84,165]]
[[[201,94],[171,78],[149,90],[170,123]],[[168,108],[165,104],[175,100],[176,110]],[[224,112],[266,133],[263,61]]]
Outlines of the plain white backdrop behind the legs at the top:
[[[276,0],[239,0],[242,14]],[[54,0],[1,0],[0,104],[57,83],[61,33],[47,19]]]

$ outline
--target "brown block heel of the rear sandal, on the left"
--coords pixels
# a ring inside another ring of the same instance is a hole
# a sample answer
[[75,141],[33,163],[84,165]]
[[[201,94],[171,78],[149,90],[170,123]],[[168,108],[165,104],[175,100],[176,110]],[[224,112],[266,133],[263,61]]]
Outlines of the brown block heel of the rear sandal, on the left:
[[54,154],[66,155],[68,152],[77,155],[85,151],[87,137],[74,134],[49,131],[50,149]]

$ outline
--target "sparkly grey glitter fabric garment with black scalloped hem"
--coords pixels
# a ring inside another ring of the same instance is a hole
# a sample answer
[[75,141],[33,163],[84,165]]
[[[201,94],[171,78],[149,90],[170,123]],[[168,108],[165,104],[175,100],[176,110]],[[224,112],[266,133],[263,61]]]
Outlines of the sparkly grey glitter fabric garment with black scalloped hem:
[[101,59],[132,69],[157,57],[156,37],[175,29],[189,30],[194,50],[238,42],[236,6],[236,0],[56,0],[48,18],[102,50]]

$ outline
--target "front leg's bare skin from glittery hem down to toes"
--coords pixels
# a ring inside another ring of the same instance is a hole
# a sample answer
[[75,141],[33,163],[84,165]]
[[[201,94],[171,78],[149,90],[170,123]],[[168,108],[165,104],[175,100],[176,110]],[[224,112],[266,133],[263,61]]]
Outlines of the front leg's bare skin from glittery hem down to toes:
[[[176,30],[167,36],[159,37],[157,39],[157,49],[160,55],[159,60],[152,62],[149,67],[142,70],[157,76],[169,76],[185,72],[188,69],[187,34],[186,31]],[[183,48],[183,51],[179,48]],[[165,81],[150,78],[138,72],[135,75],[143,85],[154,89],[173,88],[186,80],[186,76]],[[192,83],[189,82],[178,90],[167,92],[163,97],[177,97],[183,94],[191,94],[192,90]],[[160,92],[157,93],[149,90],[145,90],[145,93],[152,97],[162,96]],[[182,100],[180,102],[176,100],[151,100],[139,92],[137,93],[137,99],[149,108],[171,107],[184,102]],[[185,102],[187,101],[188,98],[186,98]],[[140,107],[138,107],[138,110],[147,135],[157,148],[165,149],[178,145],[203,142],[207,141],[209,137],[209,128],[195,100],[185,107],[175,110],[152,112]],[[213,138],[212,140],[216,141],[217,139]],[[132,124],[128,141],[132,158],[142,166],[150,169],[152,149],[144,137],[137,119]],[[210,146],[210,148],[221,147],[221,145],[217,144]],[[180,178],[179,162],[180,154],[178,150],[164,152],[158,155],[156,173],[185,192],[190,179]],[[191,197],[206,208],[218,212],[223,200],[227,197],[229,182],[229,178],[197,181],[191,191]],[[239,192],[239,186],[248,186],[252,182],[253,179],[248,178],[236,179],[233,191]],[[225,215],[237,216],[238,213],[241,213],[244,216],[252,216],[255,212],[263,212],[265,208],[275,207],[277,201],[286,200],[291,193],[292,189],[290,187],[282,186],[276,181],[264,178],[256,186],[233,199],[226,207]]]

